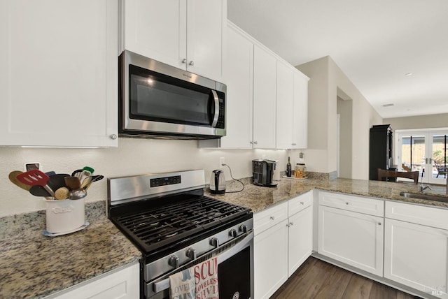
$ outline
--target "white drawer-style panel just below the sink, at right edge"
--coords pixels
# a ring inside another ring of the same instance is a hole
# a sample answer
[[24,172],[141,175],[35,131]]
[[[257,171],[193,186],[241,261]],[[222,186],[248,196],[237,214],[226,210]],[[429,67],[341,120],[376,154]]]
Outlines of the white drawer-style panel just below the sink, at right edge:
[[448,210],[410,203],[386,201],[386,218],[448,230]]

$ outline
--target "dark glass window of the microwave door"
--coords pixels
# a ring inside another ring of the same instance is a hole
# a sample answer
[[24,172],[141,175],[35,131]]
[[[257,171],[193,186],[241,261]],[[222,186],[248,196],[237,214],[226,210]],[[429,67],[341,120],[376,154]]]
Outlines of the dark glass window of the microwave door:
[[211,126],[211,90],[130,65],[130,118]]

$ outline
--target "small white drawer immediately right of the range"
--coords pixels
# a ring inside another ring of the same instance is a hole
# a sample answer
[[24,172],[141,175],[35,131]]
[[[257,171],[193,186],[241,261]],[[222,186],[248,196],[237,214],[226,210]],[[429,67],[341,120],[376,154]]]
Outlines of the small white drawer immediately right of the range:
[[267,230],[281,221],[288,218],[288,202],[285,201],[274,207],[269,207],[266,210],[255,213],[253,215],[253,233],[257,235],[262,231]]

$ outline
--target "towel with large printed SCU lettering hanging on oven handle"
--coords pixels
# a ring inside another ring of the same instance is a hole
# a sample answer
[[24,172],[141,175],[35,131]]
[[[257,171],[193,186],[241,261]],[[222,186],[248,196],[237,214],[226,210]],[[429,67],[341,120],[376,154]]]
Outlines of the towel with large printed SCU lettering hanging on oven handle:
[[196,299],[218,299],[218,260],[210,258],[194,266]]

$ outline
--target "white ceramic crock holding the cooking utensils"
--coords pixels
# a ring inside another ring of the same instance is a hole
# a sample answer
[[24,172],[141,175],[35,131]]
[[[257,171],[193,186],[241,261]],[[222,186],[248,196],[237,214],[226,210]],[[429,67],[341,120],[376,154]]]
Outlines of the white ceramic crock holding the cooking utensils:
[[73,231],[85,222],[84,198],[78,200],[47,200],[46,221],[48,233]]

